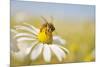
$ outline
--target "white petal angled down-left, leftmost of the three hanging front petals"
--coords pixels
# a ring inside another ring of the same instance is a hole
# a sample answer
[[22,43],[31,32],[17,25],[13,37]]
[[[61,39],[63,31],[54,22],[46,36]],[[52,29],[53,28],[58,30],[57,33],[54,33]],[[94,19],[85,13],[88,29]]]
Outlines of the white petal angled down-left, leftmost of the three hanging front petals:
[[37,46],[35,46],[35,48],[33,49],[32,53],[31,53],[32,60],[35,60],[38,58],[38,56],[42,52],[42,48],[43,48],[43,44],[38,44]]

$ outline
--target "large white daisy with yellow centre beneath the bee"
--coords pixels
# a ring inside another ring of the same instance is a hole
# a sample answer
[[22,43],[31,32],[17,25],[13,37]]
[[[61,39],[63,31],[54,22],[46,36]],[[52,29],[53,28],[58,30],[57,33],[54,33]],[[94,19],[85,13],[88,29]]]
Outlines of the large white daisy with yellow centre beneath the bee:
[[39,34],[40,29],[26,23],[16,26],[14,30],[18,32],[14,38],[19,48],[15,55],[20,59],[29,56],[31,60],[36,60],[42,54],[44,61],[50,62],[54,54],[61,62],[69,53],[68,49],[64,48],[65,40],[59,36],[52,36],[49,42],[45,35]]

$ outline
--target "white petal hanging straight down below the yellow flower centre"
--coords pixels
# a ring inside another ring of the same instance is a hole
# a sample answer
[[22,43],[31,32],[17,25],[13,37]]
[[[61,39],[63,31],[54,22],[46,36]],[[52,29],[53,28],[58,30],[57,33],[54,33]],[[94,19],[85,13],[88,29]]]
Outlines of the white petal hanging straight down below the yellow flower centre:
[[50,51],[49,45],[47,45],[47,44],[44,45],[43,57],[46,62],[51,61],[51,51]]

